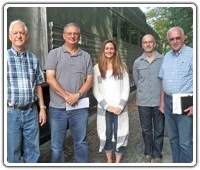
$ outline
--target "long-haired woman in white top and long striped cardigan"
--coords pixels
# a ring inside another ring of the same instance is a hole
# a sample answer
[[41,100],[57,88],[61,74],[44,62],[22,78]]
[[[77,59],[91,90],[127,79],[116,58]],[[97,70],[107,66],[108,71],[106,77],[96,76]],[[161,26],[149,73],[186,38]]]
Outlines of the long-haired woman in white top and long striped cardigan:
[[108,163],[112,163],[113,151],[116,155],[115,162],[120,163],[125,146],[127,146],[129,93],[130,82],[127,67],[118,55],[116,43],[110,39],[106,40],[102,44],[98,63],[94,66],[93,94],[98,102],[99,151],[105,150]]

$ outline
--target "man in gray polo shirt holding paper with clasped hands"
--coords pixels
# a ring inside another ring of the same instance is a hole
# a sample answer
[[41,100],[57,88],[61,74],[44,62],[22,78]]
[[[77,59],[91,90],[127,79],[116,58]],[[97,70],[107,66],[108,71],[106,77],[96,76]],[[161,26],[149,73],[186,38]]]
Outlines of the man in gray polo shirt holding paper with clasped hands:
[[[88,162],[86,132],[88,108],[76,108],[87,97],[93,82],[90,55],[78,47],[80,27],[69,23],[64,27],[63,46],[49,52],[46,78],[50,86],[49,121],[51,128],[51,162],[64,163],[64,140],[69,126],[74,145],[74,162]],[[75,109],[67,110],[66,105]]]

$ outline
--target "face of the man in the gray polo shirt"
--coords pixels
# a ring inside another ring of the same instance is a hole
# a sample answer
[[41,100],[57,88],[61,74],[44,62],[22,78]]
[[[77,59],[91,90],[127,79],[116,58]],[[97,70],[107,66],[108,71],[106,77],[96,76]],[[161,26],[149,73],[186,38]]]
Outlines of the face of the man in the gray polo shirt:
[[66,27],[63,39],[68,45],[77,45],[80,40],[80,30],[73,25]]

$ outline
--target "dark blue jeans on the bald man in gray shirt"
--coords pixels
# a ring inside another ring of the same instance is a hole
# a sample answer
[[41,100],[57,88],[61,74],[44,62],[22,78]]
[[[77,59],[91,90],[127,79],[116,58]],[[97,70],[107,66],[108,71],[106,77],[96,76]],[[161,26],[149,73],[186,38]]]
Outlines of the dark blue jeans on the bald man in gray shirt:
[[144,140],[144,155],[162,158],[164,140],[164,114],[159,107],[138,106],[142,136]]

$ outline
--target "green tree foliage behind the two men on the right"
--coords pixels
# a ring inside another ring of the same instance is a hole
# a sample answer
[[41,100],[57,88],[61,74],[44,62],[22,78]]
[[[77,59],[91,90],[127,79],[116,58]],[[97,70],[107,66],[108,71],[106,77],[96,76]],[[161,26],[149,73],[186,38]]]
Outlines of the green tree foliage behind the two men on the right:
[[146,18],[149,25],[159,34],[163,53],[169,50],[166,40],[167,30],[174,26],[183,28],[187,36],[186,44],[193,47],[193,9],[191,7],[148,8]]

